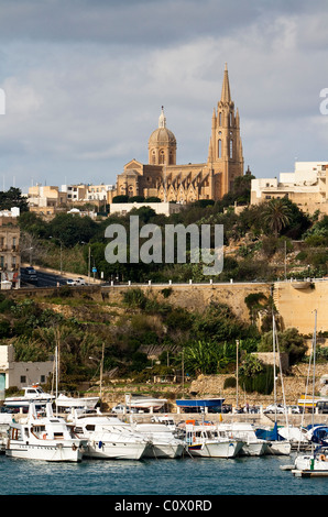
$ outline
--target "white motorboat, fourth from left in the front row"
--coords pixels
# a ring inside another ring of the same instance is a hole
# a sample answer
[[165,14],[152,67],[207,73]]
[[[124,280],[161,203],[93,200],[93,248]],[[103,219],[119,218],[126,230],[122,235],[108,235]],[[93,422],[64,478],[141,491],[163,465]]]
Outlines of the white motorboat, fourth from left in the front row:
[[236,458],[244,442],[219,437],[214,425],[186,425],[186,449],[193,457]]

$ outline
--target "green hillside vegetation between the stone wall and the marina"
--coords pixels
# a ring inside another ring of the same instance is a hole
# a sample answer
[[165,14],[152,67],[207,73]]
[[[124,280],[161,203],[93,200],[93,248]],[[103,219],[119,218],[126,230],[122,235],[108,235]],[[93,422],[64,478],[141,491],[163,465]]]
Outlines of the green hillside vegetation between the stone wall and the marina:
[[[59,296],[39,301],[14,301],[2,295],[0,311],[1,344],[14,345],[17,361],[48,360],[58,346],[62,389],[74,391],[83,381],[99,378],[102,346],[105,378],[111,372],[135,382],[183,370],[192,378],[200,373],[234,373],[237,339],[241,386],[261,393],[271,386],[269,370],[252,355],[270,348],[270,332],[261,334],[221,304],[210,304],[203,312],[188,311],[170,305],[164,295],[146,296],[131,288],[117,307],[83,295],[67,297],[64,287]],[[297,331],[282,332],[280,338],[281,349],[300,360],[305,348]],[[158,364],[147,359],[152,350],[157,351]]]

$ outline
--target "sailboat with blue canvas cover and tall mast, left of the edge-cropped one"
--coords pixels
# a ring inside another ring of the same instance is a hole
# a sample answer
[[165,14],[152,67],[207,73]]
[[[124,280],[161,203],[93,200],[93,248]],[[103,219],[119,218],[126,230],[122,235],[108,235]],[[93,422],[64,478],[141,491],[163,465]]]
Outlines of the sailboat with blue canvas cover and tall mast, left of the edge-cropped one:
[[275,318],[274,315],[272,316],[272,344],[273,344],[273,386],[274,386],[274,427],[273,429],[256,429],[255,435],[258,438],[262,440],[266,440],[267,442],[267,453],[269,454],[291,454],[292,444],[288,439],[283,438],[278,433],[278,427],[276,421],[276,364],[275,364],[275,353],[278,354],[278,365],[281,372],[281,380],[282,380],[282,388],[283,388],[283,398],[284,398],[284,408],[285,408],[285,417],[286,417],[286,427],[288,428],[288,417],[287,417],[287,409],[286,409],[286,402],[285,402],[285,392],[284,392],[284,383],[283,383],[283,375],[282,375],[282,364],[281,364],[281,354],[278,349],[278,341],[276,336],[276,327],[275,327]]

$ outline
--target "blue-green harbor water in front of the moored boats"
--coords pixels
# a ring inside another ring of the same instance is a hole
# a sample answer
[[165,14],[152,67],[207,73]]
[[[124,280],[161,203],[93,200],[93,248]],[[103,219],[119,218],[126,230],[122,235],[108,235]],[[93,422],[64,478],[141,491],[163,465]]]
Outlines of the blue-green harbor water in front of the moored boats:
[[0,455],[1,495],[327,495],[328,479],[299,479],[291,457],[50,463]]

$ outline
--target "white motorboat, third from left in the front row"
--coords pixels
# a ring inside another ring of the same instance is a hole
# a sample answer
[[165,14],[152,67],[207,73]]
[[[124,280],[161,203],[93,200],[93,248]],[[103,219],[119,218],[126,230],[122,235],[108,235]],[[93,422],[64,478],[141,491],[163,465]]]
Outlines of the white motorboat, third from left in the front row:
[[133,429],[149,441],[144,458],[181,458],[185,443],[165,424],[134,424]]

